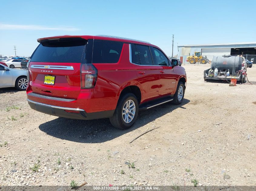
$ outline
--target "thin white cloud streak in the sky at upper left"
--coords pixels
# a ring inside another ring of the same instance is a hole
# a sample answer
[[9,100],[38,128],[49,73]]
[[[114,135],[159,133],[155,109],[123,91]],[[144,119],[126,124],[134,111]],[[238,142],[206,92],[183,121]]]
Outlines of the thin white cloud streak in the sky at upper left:
[[62,30],[62,31],[77,31],[78,28],[70,26],[43,26],[43,25],[23,25],[23,24],[2,24],[0,30]]

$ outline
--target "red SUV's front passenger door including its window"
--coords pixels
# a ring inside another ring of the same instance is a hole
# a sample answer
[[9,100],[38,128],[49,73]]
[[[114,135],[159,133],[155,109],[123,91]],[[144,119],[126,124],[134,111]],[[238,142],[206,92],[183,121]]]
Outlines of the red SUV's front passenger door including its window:
[[155,57],[156,65],[159,65],[160,80],[159,80],[159,95],[174,94],[176,84],[176,73],[171,67],[169,59],[165,54],[155,47],[151,47]]

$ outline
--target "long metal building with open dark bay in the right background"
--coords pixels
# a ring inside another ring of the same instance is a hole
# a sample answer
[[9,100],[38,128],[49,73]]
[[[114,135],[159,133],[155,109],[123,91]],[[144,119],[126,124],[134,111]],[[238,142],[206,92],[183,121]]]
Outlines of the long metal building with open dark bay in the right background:
[[201,52],[211,61],[213,56],[222,55],[243,55],[249,61],[256,61],[256,42],[250,43],[223,43],[223,44],[199,44],[178,46],[178,58],[185,63],[187,56],[194,55],[194,52]]

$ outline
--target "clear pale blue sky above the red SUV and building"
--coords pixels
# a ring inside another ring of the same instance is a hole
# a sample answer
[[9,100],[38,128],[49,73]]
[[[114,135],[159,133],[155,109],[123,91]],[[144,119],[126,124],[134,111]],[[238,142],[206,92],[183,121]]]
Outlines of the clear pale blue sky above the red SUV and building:
[[41,37],[106,34],[178,45],[254,42],[256,1],[2,1],[0,54],[30,56]]

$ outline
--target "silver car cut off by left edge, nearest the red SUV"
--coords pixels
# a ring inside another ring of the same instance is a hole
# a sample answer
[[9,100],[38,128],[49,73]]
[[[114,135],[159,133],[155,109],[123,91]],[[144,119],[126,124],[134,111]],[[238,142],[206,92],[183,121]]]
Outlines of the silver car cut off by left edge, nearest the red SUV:
[[27,70],[12,69],[0,64],[0,88],[8,87],[26,90],[28,87]]

